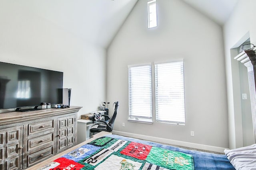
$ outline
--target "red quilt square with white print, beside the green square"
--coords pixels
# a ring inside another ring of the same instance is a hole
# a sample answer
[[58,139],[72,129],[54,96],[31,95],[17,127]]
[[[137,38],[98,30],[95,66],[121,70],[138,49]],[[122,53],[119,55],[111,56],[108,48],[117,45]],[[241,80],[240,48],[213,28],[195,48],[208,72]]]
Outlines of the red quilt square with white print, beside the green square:
[[124,148],[120,153],[134,158],[145,160],[150,152],[152,146],[144,145],[142,143],[131,142],[126,148]]

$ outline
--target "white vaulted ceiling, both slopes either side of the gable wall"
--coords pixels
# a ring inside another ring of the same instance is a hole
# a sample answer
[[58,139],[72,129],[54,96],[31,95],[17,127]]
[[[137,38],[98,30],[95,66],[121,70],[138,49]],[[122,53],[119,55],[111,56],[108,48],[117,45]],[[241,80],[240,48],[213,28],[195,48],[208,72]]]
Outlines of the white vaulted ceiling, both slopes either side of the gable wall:
[[[44,18],[86,41],[107,48],[137,1],[20,0],[12,2],[12,5],[19,3],[21,8],[31,14]],[[183,1],[223,25],[238,0]]]

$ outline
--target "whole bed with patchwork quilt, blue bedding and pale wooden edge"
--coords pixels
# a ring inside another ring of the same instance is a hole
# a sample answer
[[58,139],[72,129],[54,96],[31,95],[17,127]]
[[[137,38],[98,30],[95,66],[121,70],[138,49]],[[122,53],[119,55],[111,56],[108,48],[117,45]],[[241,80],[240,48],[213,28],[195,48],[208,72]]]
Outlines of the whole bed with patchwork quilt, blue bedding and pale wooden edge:
[[28,170],[235,170],[224,154],[101,132]]

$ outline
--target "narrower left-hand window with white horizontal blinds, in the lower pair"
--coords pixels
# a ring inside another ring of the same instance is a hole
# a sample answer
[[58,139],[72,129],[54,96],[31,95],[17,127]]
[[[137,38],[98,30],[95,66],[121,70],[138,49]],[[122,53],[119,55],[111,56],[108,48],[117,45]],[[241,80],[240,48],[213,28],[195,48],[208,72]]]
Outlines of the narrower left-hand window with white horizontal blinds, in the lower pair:
[[151,65],[129,67],[129,116],[152,119]]

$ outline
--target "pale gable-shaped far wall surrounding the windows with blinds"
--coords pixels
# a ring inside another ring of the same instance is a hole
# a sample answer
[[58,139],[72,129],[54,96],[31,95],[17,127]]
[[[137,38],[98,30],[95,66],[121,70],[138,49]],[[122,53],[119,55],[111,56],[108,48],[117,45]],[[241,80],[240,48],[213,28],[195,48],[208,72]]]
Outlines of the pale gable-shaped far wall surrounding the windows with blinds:
[[[222,27],[180,0],[159,0],[157,10],[158,27],[148,29],[139,0],[108,49],[107,99],[120,102],[114,130],[227,148]],[[186,125],[128,122],[127,66],[175,59],[184,59]]]

